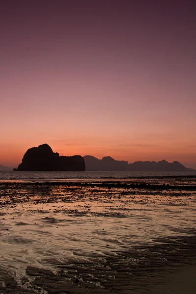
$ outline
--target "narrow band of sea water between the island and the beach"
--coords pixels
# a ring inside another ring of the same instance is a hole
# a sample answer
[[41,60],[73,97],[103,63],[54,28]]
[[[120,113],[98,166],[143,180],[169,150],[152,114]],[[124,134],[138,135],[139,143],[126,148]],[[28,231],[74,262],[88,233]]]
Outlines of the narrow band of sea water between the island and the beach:
[[0,181],[129,180],[150,177],[196,176],[196,172],[0,172]]

